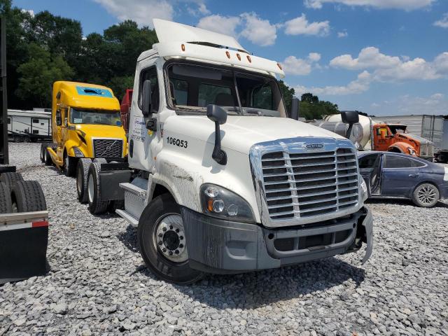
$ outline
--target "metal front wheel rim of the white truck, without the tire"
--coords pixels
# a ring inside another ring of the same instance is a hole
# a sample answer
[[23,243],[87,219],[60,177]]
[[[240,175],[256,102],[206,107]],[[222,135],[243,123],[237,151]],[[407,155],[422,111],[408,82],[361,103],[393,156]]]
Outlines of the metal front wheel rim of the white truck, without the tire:
[[158,219],[153,232],[153,246],[169,261],[179,263],[188,260],[181,215],[166,214]]

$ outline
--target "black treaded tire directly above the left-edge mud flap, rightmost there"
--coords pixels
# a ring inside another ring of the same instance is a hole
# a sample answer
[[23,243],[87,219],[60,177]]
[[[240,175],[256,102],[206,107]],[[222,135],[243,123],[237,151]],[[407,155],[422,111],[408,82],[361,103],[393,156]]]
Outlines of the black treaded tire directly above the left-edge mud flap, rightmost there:
[[13,204],[17,212],[43,211],[47,209],[45,195],[38,181],[18,181],[12,190]]

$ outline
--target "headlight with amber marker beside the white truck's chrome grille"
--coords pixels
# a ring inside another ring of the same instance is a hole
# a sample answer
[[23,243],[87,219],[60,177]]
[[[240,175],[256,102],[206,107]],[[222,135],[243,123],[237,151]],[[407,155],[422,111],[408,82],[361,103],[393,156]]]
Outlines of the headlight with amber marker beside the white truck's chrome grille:
[[254,223],[249,204],[232,191],[214,184],[203,184],[200,190],[204,214],[227,219]]

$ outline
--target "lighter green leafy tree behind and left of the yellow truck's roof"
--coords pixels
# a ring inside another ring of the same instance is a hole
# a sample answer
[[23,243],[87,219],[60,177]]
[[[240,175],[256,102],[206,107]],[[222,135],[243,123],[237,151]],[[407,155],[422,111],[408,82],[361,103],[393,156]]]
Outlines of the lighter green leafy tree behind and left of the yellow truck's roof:
[[56,80],[66,80],[73,76],[62,56],[51,57],[50,52],[36,45],[29,44],[28,60],[18,68],[20,74],[16,94],[31,102],[31,106],[51,106],[52,84]]

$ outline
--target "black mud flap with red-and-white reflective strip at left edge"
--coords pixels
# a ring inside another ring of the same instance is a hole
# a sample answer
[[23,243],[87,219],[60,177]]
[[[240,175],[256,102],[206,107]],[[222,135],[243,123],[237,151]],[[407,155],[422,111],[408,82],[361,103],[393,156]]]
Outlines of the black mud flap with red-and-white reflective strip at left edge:
[[48,211],[0,215],[0,284],[48,272]]

